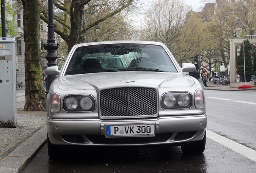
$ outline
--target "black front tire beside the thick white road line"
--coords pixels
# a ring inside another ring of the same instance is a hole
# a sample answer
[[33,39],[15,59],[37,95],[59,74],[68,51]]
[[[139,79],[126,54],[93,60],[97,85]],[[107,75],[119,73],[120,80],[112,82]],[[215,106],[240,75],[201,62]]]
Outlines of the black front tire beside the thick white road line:
[[196,155],[204,152],[206,143],[206,132],[204,138],[201,141],[196,141],[192,145],[181,145],[182,152],[188,155]]

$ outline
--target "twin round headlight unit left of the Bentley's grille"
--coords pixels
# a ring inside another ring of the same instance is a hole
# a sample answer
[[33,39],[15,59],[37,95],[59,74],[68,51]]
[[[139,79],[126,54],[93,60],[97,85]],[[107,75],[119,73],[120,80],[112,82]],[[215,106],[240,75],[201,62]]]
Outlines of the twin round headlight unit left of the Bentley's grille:
[[67,112],[94,111],[95,108],[95,99],[91,95],[69,95],[63,99],[63,109]]

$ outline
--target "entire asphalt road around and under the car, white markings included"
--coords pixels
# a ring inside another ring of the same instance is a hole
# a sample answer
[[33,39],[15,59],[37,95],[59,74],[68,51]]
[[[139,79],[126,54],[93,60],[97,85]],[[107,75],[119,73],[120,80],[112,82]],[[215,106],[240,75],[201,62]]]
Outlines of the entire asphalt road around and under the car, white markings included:
[[45,145],[23,173],[255,173],[256,92],[205,90],[205,97],[208,131],[201,155],[163,145],[86,147],[50,159]]

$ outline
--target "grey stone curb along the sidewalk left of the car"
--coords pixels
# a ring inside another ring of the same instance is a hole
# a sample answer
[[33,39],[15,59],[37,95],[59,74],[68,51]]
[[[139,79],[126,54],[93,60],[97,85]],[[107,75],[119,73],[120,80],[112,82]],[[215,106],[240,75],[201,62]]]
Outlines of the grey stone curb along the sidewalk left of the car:
[[22,171],[45,145],[46,141],[46,126],[44,126],[0,161],[0,173],[19,173]]

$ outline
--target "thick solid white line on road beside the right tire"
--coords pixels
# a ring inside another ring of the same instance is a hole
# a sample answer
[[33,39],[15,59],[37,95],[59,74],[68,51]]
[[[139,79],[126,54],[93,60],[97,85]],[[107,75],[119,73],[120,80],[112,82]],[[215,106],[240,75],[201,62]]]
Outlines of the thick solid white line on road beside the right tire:
[[245,157],[253,161],[256,161],[256,151],[253,149],[250,149],[244,145],[231,141],[230,139],[227,139],[209,130],[206,130],[206,137],[212,139],[213,141],[216,141],[217,143],[220,143],[221,145],[224,145],[225,147],[228,147],[229,149],[232,149],[233,151],[239,154],[244,155]]

